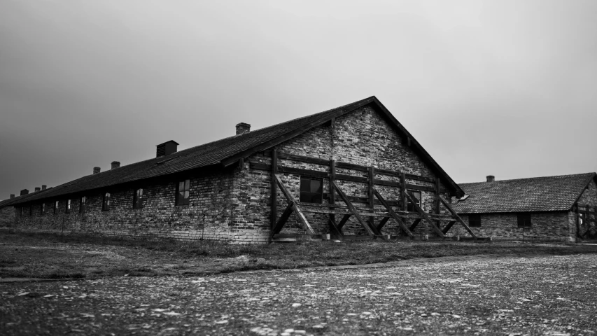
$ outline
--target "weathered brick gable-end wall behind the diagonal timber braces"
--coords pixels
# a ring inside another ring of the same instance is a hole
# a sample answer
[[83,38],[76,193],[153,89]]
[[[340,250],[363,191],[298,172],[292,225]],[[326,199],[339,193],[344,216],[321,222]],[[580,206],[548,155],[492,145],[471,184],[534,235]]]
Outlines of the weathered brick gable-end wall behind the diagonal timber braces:
[[[402,144],[402,139],[395,132],[390,125],[383,119],[383,117],[369,107],[358,109],[351,113],[337,118],[335,125],[323,125],[315,127],[304,134],[290,139],[278,146],[280,153],[288,153],[295,155],[309,156],[311,158],[321,159],[335,159],[339,162],[348,162],[356,165],[374,166],[379,169],[389,169],[394,171],[406,172],[407,174],[416,174],[435,179],[435,175],[430,171],[421,159],[412,151],[411,148]],[[269,232],[270,225],[270,181],[271,175],[269,172],[260,170],[253,170],[249,168],[249,162],[260,162],[271,164],[271,158],[260,154],[253,155],[245,164],[245,169],[239,172],[239,184],[241,186],[248,186],[251,192],[244,197],[239,197],[234,202],[238,202],[239,207],[243,209],[259,209],[258,211],[241,211],[239,215],[247,223],[252,223],[255,230],[262,232]],[[305,162],[297,162],[294,160],[279,160],[279,164],[287,167],[295,167],[302,169],[311,169],[318,172],[329,173],[328,166],[315,165]],[[360,172],[351,169],[337,168],[337,174],[348,174],[352,176],[367,177],[367,172]],[[300,199],[300,175],[299,174],[281,174],[282,181],[286,188],[295,200]],[[399,178],[393,176],[386,176],[377,174],[376,179],[384,179],[386,181],[400,181]],[[351,181],[337,181],[338,185],[344,193],[349,196],[367,197],[367,184],[357,183]],[[433,183],[416,181],[407,179],[407,183],[416,184],[419,186],[435,186]],[[444,187],[441,185],[442,188]],[[387,186],[376,186],[379,193],[386,200],[399,200],[400,190],[398,188]],[[323,179],[323,193],[330,193],[330,185],[328,179]],[[433,211],[433,193],[423,191],[422,207],[424,210]],[[448,195],[443,195],[444,199],[450,200]],[[342,200],[337,200],[337,204],[343,204]],[[324,204],[328,204],[328,200],[324,200]],[[288,203],[283,194],[278,191],[278,207],[277,212],[280,216]],[[356,207],[367,207],[364,203],[355,203]],[[383,209],[381,205],[376,206],[377,209]],[[394,208],[396,209],[396,208]],[[442,213],[447,213],[447,209],[442,207]],[[314,228],[316,233],[327,234],[328,215],[327,214],[313,214],[305,213],[307,220]],[[337,221],[342,218],[342,215],[336,215]],[[365,220],[367,218],[363,218]],[[375,223],[379,223],[381,218],[375,218]],[[407,225],[412,223],[412,220],[407,221]],[[346,223],[343,228],[346,235],[366,235],[363,227],[356,221],[355,218]],[[399,235],[400,229],[398,224],[390,220],[384,227],[384,234]],[[298,218],[293,214],[281,233],[290,234],[298,233],[304,234],[302,224]],[[433,235],[430,233],[430,228],[426,223],[421,223],[415,231],[416,235]]]

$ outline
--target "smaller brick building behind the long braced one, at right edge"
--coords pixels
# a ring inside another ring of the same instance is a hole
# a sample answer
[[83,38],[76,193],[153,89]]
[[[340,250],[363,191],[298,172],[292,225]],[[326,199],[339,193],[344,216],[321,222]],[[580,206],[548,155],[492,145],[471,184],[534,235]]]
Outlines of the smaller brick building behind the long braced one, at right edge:
[[595,239],[597,174],[461,183],[456,212],[477,235],[575,242]]

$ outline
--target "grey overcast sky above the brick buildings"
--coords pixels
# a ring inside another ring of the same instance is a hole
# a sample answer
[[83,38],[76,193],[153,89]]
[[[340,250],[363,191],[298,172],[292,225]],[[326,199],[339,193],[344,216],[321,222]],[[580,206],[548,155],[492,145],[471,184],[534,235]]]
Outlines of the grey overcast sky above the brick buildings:
[[597,171],[597,1],[0,0],[0,200],[372,95],[458,183]]

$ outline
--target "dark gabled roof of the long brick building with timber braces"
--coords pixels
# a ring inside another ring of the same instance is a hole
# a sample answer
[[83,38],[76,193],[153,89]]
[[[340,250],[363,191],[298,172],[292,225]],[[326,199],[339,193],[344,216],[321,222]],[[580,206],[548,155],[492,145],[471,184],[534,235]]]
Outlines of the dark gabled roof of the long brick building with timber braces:
[[335,109],[293,119],[260,130],[227,137],[208,144],[188,148],[184,151],[178,151],[171,155],[136,162],[99,174],[83,176],[80,179],[64,183],[61,186],[56,186],[52,188],[52,190],[47,190],[43,195],[40,194],[34,197],[27,197],[26,199],[15,198],[12,202],[6,203],[5,206],[41,200],[43,198],[82,193],[85,190],[105,188],[120,183],[184,172],[190,169],[209,166],[228,167],[234,165],[240,159],[248,158],[248,156],[253,153],[272,148],[277,144],[281,144],[283,141],[307,132],[307,130],[310,130],[313,127],[328,123],[332,118],[337,118],[345,113],[349,113],[350,111],[354,111],[355,109],[369,104],[377,107],[377,110],[388,118],[388,122],[397,132],[402,134],[405,138],[410,139],[411,148],[421,155],[423,160],[425,160],[428,165],[430,165],[431,169],[440,176],[442,181],[444,181],[449,190],[453,193],[462,192],[458,185],[450,178],[450,176],[448,176],[448,174],[446,174],[446,172],[444,172],[440,165],[437,165],[437,162],[435,162],[423,147],[414,140],[414,137],[412,137],[412,135],[398,123],[398,120],[391,115],[386,107],[383,106],[376,97],[372,96]]

